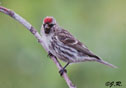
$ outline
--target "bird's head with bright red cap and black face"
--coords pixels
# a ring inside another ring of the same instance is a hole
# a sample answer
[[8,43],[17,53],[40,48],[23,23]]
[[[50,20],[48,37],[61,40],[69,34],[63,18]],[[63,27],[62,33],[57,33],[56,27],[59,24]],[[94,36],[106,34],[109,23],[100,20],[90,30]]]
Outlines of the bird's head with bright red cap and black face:
[[53,27],[56,25],[56,20],[53,17],[45,17],[43,20],[43,28],[46,34],[49,34]]

